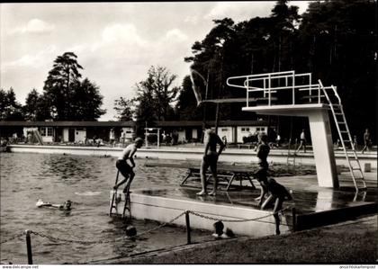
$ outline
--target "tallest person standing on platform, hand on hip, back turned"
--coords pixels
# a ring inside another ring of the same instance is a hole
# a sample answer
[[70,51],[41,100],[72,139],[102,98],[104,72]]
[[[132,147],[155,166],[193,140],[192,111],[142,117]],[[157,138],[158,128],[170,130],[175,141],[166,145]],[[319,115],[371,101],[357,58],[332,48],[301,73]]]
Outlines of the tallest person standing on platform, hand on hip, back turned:
[[[213,190],[210,195],[216,195],[218,187],[218,175],[217,175],[217,163],[218,158],[223,151],[225,145],[220,137],[211,130],[209,125],[205,125],[205,150],[201,162],[201,184],[202,190],[197,193],[197,195],[206,195],[207,194],[207,182],[206,182],[206,171],[210,167],[211,175],[214,180]],[[217,145],[220,145],[220,148],[217,152]]]

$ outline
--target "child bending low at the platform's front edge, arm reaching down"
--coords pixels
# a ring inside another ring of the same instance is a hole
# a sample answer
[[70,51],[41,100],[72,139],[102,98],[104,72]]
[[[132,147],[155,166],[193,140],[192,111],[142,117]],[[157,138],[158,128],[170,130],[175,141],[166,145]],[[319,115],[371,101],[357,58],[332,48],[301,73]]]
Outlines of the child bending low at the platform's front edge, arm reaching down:
[[[283,209],[284,201],[293,200],[292,195],[287,191],[284,185],[279,184],[275,181],[274,178],[268,178],[267,181],[267,190],[270,195],[266,201],[261,206],[261,209],[264,210],[268,204],[274,202],[273,216],[275,217],[275,234],[279,235],[280,232],[280,218],[278,212]],[[264,198],[263,198],[264,199]]]

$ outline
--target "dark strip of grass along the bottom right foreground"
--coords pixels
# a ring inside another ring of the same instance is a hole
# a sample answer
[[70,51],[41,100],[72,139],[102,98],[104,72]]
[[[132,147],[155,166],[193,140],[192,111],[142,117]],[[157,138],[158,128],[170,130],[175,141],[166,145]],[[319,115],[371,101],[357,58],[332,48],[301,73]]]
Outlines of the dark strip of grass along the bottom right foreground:
[[212,241],[134,257],[126,264],[375,264],[376,219],[374,215],[283,236]]

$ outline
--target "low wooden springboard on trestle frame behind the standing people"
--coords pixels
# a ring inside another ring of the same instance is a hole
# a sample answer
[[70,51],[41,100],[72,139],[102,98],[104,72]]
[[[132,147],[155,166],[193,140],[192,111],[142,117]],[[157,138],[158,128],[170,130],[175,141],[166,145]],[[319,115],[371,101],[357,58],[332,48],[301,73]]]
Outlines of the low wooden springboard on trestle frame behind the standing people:
[[[187,184],[189,180],[197,180],[201,178],[201,164],[193,164],[193,163],[186,163],[186,164],[167,164],[167,163],[146,163],[146,166],[166,166],[166,167],[175,167],[175,168],[186,168],[187,174],[184,176],[184,179],[181,181],[180,186]],[[249,187],[252,189],[256,189],[255,184],[253,184],[251,176],[256,171],[252,169],[248,169],[247,167],[242,166],[231,166],[231,165],[219,165],[217,167],[217,175],[219,184],[221,185],[222,181],[226,182],[226,191],[228,192],[231,188],[232,183],[235,180],[240,182],[240,187],[243,187],[242,182],[247,180],[250,184]],[[207,181],[211,179],[211,172],[208,170],[206,171]],[[245,186],[246,187],[246,186]]]

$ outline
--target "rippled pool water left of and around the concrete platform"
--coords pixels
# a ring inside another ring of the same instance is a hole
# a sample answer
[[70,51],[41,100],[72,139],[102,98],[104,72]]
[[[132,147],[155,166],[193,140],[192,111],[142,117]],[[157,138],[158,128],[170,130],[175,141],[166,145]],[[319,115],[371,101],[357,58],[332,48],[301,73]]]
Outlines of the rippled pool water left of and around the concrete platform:
[[[55,238],[83,241],[118,239],[125,224],[109,217],[109,191],[117,170],[113,157],[63,156],[33,153],[1,154],[1,242],[25,229]],[[137,159],[137,175],[131,186],[177,186],[185,170],[146,167]],[[37,208],[45,202],[73,202],[72,211]],[[132,220],[138,232],[157,227],[154,221]],[[174,234],[175,236],[172,236]],[[202,231],[194,231],[200,237]],[[165,227],[136,241],[79,244],[54,242],[31,234],[34,264],[81,264],[115,256],[129,256],[161,247],[184,245],[184,229]],[[1,245],[1,263],[27,264],[25,238]]]

